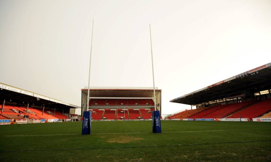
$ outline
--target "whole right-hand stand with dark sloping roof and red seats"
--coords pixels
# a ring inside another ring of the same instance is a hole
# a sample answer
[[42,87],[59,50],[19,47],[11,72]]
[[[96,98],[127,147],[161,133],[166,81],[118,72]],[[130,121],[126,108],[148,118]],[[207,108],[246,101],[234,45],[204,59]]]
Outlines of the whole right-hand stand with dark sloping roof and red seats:
[[[271,63],[264,64],[194,92],[182,95],[170,102],[202,109],[198,113],[187,110],[166,115],[174,118],[255,118],[269,117],[271,98]],[[259,102],[262,101],[262,102]],[[256,103],[257,102],[257,103]],[[225,106],[214,106],[217,104]],[[189,116],[190,114],[193,114]],[[266,113],[266,115],[264,115]],[[189,114],[189,115],[187,115]]]

